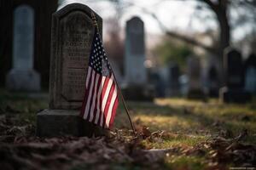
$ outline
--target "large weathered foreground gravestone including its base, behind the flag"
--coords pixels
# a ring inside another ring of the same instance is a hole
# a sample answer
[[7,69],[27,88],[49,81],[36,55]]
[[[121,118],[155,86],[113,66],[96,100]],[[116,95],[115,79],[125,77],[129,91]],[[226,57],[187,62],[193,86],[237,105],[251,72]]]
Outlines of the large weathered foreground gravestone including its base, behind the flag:
[[[38,113],[38,136],[102,132],[79,116],[95,31],[91,11],[72,3],[52,15],[49,109]],[[102,18],[96,15],[96,20],[102,32]]]

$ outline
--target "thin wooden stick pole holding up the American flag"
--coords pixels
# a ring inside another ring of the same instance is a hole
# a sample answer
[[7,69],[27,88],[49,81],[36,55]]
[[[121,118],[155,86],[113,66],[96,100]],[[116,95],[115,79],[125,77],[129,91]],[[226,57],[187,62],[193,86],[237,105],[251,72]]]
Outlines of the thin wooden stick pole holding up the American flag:
[[[93,21],[93,25],[96,26],[97,31],[100,32],[100,31],[99,31],[98,24],[97,24],[97,21],[96,21],[96,16],[95,16],[95,14],[94,14],[93,11],[91,11],[91,18],[92,18],[92,21]],[[112,71],[112,73],[113,73],[113,71]],[[128,110],[128,108],[127,108],[127,105],[125,104],[124,96],[123,96],[123,94],[122,94],[122,92],[121,92],[121,90],[120,90],[120,88],[119,88],[119,83],[117,82],[114,73],[113,73],[113,79],[114,79],[114,82],[116,83],[116,86],[117,86],[117,89],[118,89],[118,92],[119,92],[119,93],[118,93],[118,94],[119,94],[119,98],[121,98],[122,103],[123,103],[123,105],[125,106],[125,112],[126,112],[128,118],[129,118],[129,122],[130,122],[130,124],[131,124],[132,131],[133,131],[134,135],[136,135],[136,133],[135,133],[135,128],[134,128],[134,126],[133,126],[133,123],[131,122],[131,116],[130,116],[129,110]]]

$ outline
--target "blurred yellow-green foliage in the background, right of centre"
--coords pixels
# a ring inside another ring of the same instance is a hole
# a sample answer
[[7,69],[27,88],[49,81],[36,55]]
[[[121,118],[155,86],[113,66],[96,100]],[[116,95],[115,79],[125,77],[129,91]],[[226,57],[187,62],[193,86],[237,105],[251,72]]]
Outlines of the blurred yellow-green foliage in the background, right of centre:
[[183,70],[186,66],[187,57],[193,54],[193,49],[187,43],[173,40],[171,38],[163,38],[154,50],[154,54],[158,56],[160,65],[169,65],[177,63]]

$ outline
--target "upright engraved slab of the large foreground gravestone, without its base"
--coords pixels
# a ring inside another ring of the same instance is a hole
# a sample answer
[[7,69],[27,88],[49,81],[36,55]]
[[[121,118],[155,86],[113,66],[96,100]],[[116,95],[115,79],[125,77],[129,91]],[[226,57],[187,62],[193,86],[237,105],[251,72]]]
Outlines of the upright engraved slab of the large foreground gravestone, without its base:
[[[94,34],[91,9],[72,3],[53,14],[49,79],[50,109],[82,105],[90,45]],[[102,31],[102,18],[96,15]]]

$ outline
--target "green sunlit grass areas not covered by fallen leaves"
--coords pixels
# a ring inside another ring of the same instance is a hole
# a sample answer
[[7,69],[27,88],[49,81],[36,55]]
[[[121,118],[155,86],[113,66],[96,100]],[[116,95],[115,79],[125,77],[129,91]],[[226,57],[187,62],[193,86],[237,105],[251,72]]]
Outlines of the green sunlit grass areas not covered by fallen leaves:
[[[0,114],[17,114],[21,124],[31,122],[35,125],[36,113],[48,108],[48,99],[45,96],[31,98],[27,94],[9,94],[4,90],[0,90],[0,94]],[[247,129],[249,133],[244,141],[256,144],[255,101],[246,105],[226,105],[218,99],[209,99],[206,103],[177,98],[155,99],[153,103],[128,102],[127,105],[136,127],[145,126],[149,127],[151,132],[160,130],[169,133],[161,139],[144,139],[142,144],[147,149],[186,149],[201,144],[223,131],[230,132],[229,138],[234,138],[243,129]],[[114,127],[131,128],[122,105],[119,105]],[[205,169],[206,162],[207,156],[186,156],[177,153],[166,156],[163,168]],[[128,167],[127,169],[131,169]],[[116,164],[113,169],[126,167]],[[140,167],[135,166],[134,169]]]

